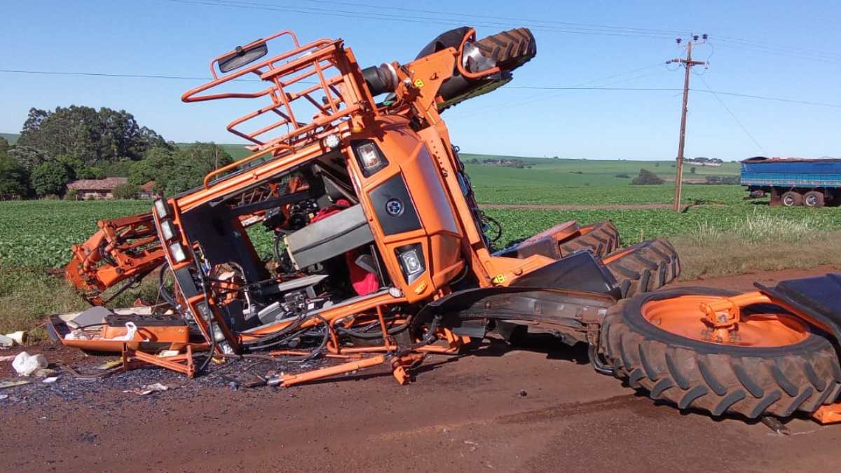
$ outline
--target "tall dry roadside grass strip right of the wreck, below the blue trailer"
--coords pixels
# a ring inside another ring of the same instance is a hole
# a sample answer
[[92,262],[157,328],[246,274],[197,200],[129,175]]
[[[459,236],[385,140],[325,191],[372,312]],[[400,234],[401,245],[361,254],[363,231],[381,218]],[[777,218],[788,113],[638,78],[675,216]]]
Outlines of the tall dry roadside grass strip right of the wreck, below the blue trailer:
[[680,279],[692,280],[819,265],[841,268],[839,239],[841,231],[828,231],[809,218],[755,214],[729,231],[701,224],[669,240],[680,254]]

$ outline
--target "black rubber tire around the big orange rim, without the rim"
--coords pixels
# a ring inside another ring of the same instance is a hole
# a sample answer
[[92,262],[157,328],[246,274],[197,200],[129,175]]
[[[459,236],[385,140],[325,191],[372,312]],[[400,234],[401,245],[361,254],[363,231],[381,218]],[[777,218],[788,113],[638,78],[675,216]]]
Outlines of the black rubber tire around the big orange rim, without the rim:
[[794,412],[815,412],[837,399],[838,354],[819,332],[785,347],[738,347],[680,337],[655,327],[641,314],[649,300],[735,294],[681,288],[621,300],[602,324],[600,352],[616,369],[616,377],[632,388],[680,409],[714,416],[789,417]]

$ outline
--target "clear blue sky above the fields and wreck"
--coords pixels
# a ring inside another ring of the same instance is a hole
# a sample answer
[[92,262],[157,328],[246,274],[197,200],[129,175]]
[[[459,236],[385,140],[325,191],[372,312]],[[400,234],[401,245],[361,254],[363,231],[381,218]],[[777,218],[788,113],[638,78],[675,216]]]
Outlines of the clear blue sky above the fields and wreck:
[[[477,24],[482,36],[532,24],[537,57],[510,86],[680,88],[683,71],[662,64],[682,54],[672,31],[706,32],[711,44],[697,46],[695,56],[709,57],[711,66],[696,68],[704,75],[692,76],[693,88],[841,104],[841,53],[832,52],[841,3],[832,1],[219,3],[233,0],[9,2],[0,68],[203,77],[211,57],[280,29],[294,29],[303,41],[341,37],[366,66],[409,61],[449,27]],[[181,94],[199,84],[0,72],[0,131],[19,131],[30,107],[86,104],[128,110],[169,140],[237,142],[225,125],[241,104],[182,104]],[[687,156],[841,157],[839,107],[718,98],[724,105],[711,93],[690,93]],[[444,118],[468,152],[672,159],[680,92],[503,88]]]

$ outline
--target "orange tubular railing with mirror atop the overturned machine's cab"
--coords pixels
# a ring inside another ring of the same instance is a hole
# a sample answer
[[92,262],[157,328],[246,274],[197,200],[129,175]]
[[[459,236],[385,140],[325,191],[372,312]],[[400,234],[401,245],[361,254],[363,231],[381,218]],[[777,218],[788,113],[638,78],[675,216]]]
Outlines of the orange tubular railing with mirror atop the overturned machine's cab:
[[[268,99],[268,104],[242,115],[227,126],[231,133],[257,145],[257,153],[209,173],[204,178],[205,187],[213,178],[258,157],[269,153],[277,157],[320,140],[334,132],[337,125],[351,120],[354,114],[377,113],[376,108],[370,106],[373,98],[362,86],[363,79],[356,60],[350,50],[344,49],[341,40],[315,40],[300,45],[294,33],[287,30],[253,41],[241,50],[260,47],[283,36],[292,39],[292,50],[220,75],[216,72],[220,61],[237,52],[229,51],[210,61],[212,81],[182,95],[182,101],[188,103],[220,98]],[[239,82],[233,81],[241,81],[242,77],[251,74],[267,82],[268,87],[253,92],[209,93],[210,89],[223,85],[239,85]],[[307,120],[302,118],[304,116]],[[243,130],[246,122],[258,118],[265,120],[266,117],[273,117],[267,125]]]

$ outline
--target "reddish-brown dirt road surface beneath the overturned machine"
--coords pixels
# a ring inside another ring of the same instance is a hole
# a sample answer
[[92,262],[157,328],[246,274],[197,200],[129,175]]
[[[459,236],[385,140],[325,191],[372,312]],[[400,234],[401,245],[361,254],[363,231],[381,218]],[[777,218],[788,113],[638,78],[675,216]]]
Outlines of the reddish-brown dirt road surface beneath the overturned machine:
[[[753,279],[705,284],[748,290]],[[538,342],[534,351],[490,342],[469,356],[431,359],[406,386],[365,372],[289,389],[185,387],[150,396],[113,389],[71,402],[0,401],[0,459],[14,471],[836,467],[841,426],[794,419],[783,437],[761,423],[681,413],[597,375],[583,350]],[[126,380],[126,389],[138,383]]]

